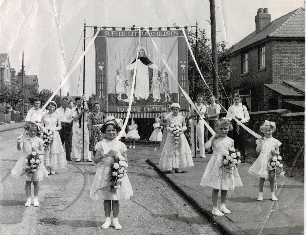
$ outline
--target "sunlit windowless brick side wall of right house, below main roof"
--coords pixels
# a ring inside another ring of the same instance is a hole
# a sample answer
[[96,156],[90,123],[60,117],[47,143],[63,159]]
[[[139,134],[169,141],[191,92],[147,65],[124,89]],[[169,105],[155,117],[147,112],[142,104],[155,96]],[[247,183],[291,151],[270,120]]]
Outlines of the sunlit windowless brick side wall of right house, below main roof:
[[305,41],[274,41],[273,83],[305,81]]

